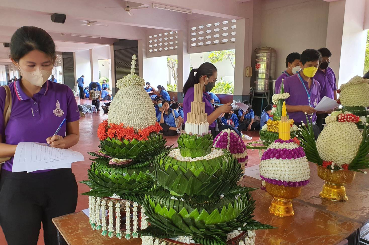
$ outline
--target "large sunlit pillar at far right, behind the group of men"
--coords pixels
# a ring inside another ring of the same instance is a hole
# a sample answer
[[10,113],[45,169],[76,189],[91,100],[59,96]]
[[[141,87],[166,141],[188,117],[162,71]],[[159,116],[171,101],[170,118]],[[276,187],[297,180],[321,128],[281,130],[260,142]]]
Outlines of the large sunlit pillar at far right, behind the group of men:
[[332,52],[330,67],[337,87],[363,75],[366,35],[363,29],[365,0],[341,0],[329,4],[326,47]]

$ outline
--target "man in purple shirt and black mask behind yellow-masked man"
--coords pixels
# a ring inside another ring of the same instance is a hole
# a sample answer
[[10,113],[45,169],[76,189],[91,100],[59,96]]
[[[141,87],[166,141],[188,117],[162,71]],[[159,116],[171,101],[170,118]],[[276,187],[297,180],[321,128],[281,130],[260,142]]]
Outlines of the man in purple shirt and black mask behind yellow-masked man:
[[[320,97],[323,99],[324,96],[337,100],[337,87],[336,87],[336,76],[333,70],[329,67],[331,62],[332,53],[329,49],[323,47],[318,50],[322,55],[322,63],[319,65],[318,71],[314,76],[320,84]],[[317,113],[317,125],[320,130],[323,130],[323,124],[325,123],[325,117],[328,116],[330,111],[323,111],[323,113]]]

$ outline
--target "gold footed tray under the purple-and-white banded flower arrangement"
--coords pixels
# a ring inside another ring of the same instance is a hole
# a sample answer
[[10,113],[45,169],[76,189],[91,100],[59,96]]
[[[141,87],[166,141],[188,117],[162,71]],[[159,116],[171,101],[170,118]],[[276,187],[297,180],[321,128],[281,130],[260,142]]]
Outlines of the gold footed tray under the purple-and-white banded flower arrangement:
[[292,199],[296,198],[301,193],[301,187],[285,187],[283,185],[273,185],[265,182],[266,191],[273,196],[270,203],[269,212],[279,216],[293,216]]

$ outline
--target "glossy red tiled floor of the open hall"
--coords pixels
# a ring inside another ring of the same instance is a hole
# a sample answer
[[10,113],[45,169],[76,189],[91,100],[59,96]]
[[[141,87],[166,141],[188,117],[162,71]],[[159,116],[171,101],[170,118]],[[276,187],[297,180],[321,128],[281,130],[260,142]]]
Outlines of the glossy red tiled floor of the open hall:
[[[79,103],[79,99],[77,98],[77,103]],[[90,100],[82,100],[81,104],[90,104]],[[100,103],[100,106],[103,105],[103,102]],[[78,162],[72,164],[73,173],[76,175],[76,180],[78,182],[78,192],[83,193],[89,191],[89,187],[87,185],[79,183],[79,181],[87,180],[87,169],[90,167],[91,161],[89,160],[90,155],[87,152],[94,152],[99,150],[99,139],[97,138],[96,132],[99,123],[103,120],[107,119],[107,115],[103,114],[103,110],[101,110],[97,114],[86,114],[86,117],[80,119],[79,127],[80,127],[80,140],[77,145],[73,146],[72,149],[78,152],[81,152],[83,156],[85,156],[85,161]],[[244,132],[249,136],[252,136],[252,140],[256,140],[259,138],[259,132]],[[177,136],[167,136],[167,145],[174,144],[174,147],[177,146]],[[249,142],[249,141],[245,141]],[[248,166],[254,166],[260,163],[259,153],[257,150],[248,150]],[[80,211],[82,209],[86,209],[88,207],[88,197],[85,195],[78,196],[77,208],[76,211]],[[0,227],[0,244],[6,245],[3,231]],[[39,234],[39,240],[37,245],[44,245],[44,238],[42,229]]]

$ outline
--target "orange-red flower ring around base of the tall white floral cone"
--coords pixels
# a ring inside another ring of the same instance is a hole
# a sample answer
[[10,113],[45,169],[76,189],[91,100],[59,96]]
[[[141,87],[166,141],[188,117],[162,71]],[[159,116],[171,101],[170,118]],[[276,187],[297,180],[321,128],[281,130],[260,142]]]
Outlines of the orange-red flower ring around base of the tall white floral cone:
[[99,124],[97,136],[99,137],[100,141],[103,141],[106,138],[128,139],[129,141],[132,139],[137,139],[138,141],[142,141],[147,140],[151,132],[159,133],[160,130],[162,130],[162,127],[158,122],[147,128],[140,129],[136,133],[132,127],[124,127],[123,123],[120,125],[113,123],[109,124],[108,120],[104,120]]

